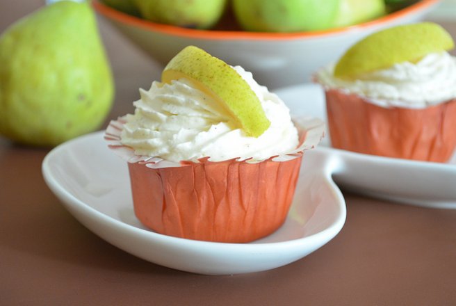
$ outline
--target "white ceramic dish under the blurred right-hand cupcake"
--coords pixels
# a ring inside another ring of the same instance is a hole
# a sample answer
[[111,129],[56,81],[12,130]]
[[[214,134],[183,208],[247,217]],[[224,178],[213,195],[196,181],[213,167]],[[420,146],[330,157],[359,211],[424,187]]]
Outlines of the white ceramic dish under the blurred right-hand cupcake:
[[[316,84],[277,90],[293,115],[326,120],[325,96]],[[359,154],[330,147],[329,134],[316,152],[341,187],[377,198],[424,207],[456,209],[456,154],[448,163],[430,163]]]

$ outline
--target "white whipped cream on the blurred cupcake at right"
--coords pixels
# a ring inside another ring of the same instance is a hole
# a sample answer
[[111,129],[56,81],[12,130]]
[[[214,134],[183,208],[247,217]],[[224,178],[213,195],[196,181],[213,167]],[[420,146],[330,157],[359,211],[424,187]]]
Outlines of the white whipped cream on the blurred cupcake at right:
[[425,108],[456,98],[456,58],[447,52],[428,54],[418,63],[398,63],[356,80],[334,77],[334,65],[316,79],[326,89],[340,89],[384,107]]

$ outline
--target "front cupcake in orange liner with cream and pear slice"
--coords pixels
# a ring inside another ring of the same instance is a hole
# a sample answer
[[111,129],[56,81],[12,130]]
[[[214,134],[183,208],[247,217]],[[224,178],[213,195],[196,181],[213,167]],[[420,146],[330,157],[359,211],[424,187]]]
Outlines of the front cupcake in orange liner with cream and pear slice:
[[242,67],[186,47],[105,138],[128,162],[133,209],[155,232],[243,243],[275,232],[323,123],[293,123]]

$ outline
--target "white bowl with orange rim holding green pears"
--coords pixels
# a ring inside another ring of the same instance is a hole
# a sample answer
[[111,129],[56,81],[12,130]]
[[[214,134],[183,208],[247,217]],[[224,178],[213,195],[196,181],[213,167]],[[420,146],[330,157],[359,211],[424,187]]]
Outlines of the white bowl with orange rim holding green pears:
[[156,24],[94,0],[95,10],[158,63],[165,65],[188,45],[200,47],[230,65],[241,65],[269,88],[310,80],[318,68],[336,61],[364,36],[398,24],[418,22],[440,0],[421,0],[395,13],[356,26],[300,33],[203,31]]

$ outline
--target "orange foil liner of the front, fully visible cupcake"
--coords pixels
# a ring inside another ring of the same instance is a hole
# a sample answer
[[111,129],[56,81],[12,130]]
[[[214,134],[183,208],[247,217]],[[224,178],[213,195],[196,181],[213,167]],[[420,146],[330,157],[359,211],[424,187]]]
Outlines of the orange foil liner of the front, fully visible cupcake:
[[155,232],[202,241],[244,243],[275,232],[286,220],[304,150],[323,137],[320,120],[300,120],[300,146],[264,161],[172,163],[136,156],[120,143],[123,118],[105,138],[128,161],[133,208]]

